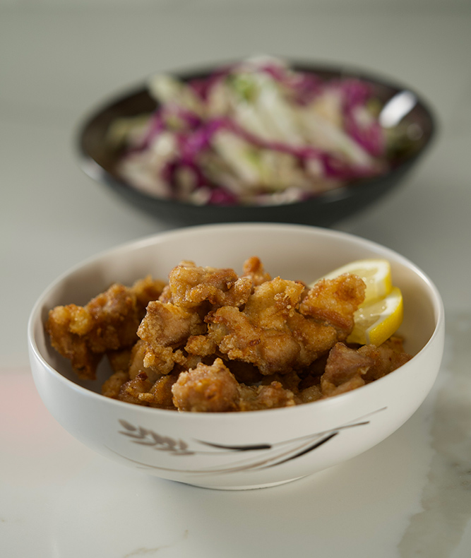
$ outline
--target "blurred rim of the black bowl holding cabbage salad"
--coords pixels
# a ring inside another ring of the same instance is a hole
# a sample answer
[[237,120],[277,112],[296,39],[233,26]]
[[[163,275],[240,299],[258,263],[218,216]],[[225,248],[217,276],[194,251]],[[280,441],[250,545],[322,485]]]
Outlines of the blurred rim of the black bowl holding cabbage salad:
[[[125,179],[122,179],[118,175],[113,174],[109,170],[102,167],[97,160],[91,155],[88,150],[85,148],[84,145],[84,136],[86,131],[90,128],[91,124],[95,119],[99,118],[102,114],[107,112],[109,109],[112,109],[115,105],[118,105],[125,100],[147,93],[147,80],[151,77],[152,74],[148,75],[147,78],[141,79],[141,81],[136,81],[133,85],[127,85],[119,90],[115,91],[115,93],[110,93],[102,97],[101,100],[95,102],[93,107],[90,107],[85,114],[81,117],[80,121],[76,125],[75,131],[75,139],[74,144],[76,146],[76,154],[78,157],[78,166],[88,175],[88,177],[94,179],[96,182],[100,182],[107,186],[119,186],[121,189],[124,189],[126,193],[131,193],[133,195],[137,195],[141,200],[150,201],[150,203],[162,203],[162,205],[168,207],[182,207],[187,208],[189,210],[198,210],[200,208],[217,208],[217,210],[222,211],[222,213],[229,213],[233,211],[234,208],[242,208],[244,211],[261,211],[263,213],[268,213],[270,208],[279,208],[290,206],[293,208],[304,206],[304,204],[309,203],[309,201],[323,201],[328,203],[329,201],[335,200],[338,196],[342,196],[342,192],[349,192],[352,189],[359,189],[362,186],[368,186],[369,184],[373,184],[377,179],[381,179],[384,177],[395,177],[396,174],[400,174],[403,172],[408,165],[412,165],[418,158],[422,157],[424,153],[430,148],[431,143],[433,143],[434,139],[436,138],[436,133],[438,129],[438,122],[436,118],[436,113],[434,109],[431,108],[431,105],[428,100],[424,98],[422,93],[419,93],[415,88],[410,87],[406,83],[395,79],[391,76],[386,76],[386,74],[380,73],[378,71],[364,69],[361,66],[357,66],[354,64],[343,64],[341,62],[327,62],[327,61],[314,61],[309,59],[304,59],[302,57],[280,57],[281,59],[285,60],[287,64],[292,66],[294,69],[299,69],[299,71],[306,71],[311,73],[316,72],[327,72],[327,73],[334,73],[345,74],[346,77],[354,77],[359,78],[362,81],[368,81],[373,83],[374,85],[379,85],[384,88],[388,88],[391,92],[399,92],[399,91],[407,91],[412,93],[417,99],[417,106],[421,107],[424,114],[427,115],[427,120],[429,121],[429,136],[425,143],[419,148],[415,153],[408,156],[404,160],[388,170],[388,172],[378,175],[378,177],[365,177],[362,179],[357,179],[356,182],[345,182],[341,186],[335,187],[332,190],[327,190],[323,192],[319,192],[314,196],[307,198],[304,201],[296,201],[294,203],[275,203],[275,204],[267,204],[267,205],[256,205],[256,204],[249,204],[247,206],[243,206],[240,204],[235,205],[228,205],[228,204],[217,204],[208,206],[207,204],[203,204],[200,206],[196,203],[190,203],[188,201],[179,201],[179,200],[172,200],[169,198],[162,198],[160,196],[154,196],[149,194],[147,191],[143,191],[138,189],[136,186],[133,186]],[[198,76],[202,76],[205,73],[210,73],[219,69],[220,67],[227,66],[230,64],[237,63],[237,59],[226,59],[220,61],[213,61],[211,63],[203,63],[198,66],[181,66],[175,69],[168,69],[162,70],[160,73],[171,73],[174,76],[182,78],[184,80],[188,80],[191,78],[196,78]],[[337,195],[335,195],[335,193]]]

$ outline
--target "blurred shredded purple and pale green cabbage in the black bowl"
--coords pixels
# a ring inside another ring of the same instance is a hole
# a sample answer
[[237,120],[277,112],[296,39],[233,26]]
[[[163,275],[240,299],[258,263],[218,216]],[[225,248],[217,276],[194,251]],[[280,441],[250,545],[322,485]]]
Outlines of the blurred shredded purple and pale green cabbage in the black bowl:
[[364,81],[325,81],[258,57],[192,81],[154,76],[148,90],[155,112],[115,121],[109,138],[125,146],[121,175],[155,196],[292,203],[387,168]]

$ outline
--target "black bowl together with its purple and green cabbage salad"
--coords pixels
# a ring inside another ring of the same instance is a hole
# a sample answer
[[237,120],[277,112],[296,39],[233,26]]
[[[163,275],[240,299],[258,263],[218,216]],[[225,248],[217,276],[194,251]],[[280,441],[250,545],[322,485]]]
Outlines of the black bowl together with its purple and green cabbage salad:
[[398,184],[434,134],[408,88],[257,57],[157,75],[90,117],[82,167],[174,225],[330,226]]

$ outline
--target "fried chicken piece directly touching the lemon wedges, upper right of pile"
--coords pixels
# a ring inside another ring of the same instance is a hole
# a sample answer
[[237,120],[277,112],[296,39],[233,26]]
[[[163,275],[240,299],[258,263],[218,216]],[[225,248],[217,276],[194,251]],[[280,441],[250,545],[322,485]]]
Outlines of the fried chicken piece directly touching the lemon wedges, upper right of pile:
[[357,275],[345,273],[335,279],[321,279],[307,292],[299,305],[304,316],[328,323],[345,340],[354,326],[353,314],[364,301],[366,285]]

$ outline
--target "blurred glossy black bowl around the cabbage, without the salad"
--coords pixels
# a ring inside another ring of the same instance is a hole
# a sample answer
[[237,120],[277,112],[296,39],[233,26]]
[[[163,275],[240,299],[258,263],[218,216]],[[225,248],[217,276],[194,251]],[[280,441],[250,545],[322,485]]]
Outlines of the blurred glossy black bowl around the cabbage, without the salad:
[[[401,129],[413,126],[414,137],[407,138],[405,150],[395,153],[394,158],[390,160],[390,170],[386,174],[349,182],[306,201],[275,206],[198,206],[145,194],[120,177],[117,171],[119,153],[105,141],[109,126],[115,119],[150,113],[157,107],[145,85],[138,86],[129,93],[107,102],[86,119],[78,132],[81,167],[97,182],[106,184],[126,201],[169,225],[263,221],[330,227],[335,222],[370,206],[400,183],[429,146],[436,129],[434,117],[417,93],[397,83],[390,83],[382,78],[344,66],[332,67],[296,62],[292,62],[291,66],[299,71],[316,73],[325,79],[352,77],[367,81],[371,83],[375,96],[383,104],[401,92],[415,95],[417,102],[398,124]],[[215,66],[212,66],[205,70],[181,72],[176,75],[183,80],[191,80],[207,76],[214,69]]]

